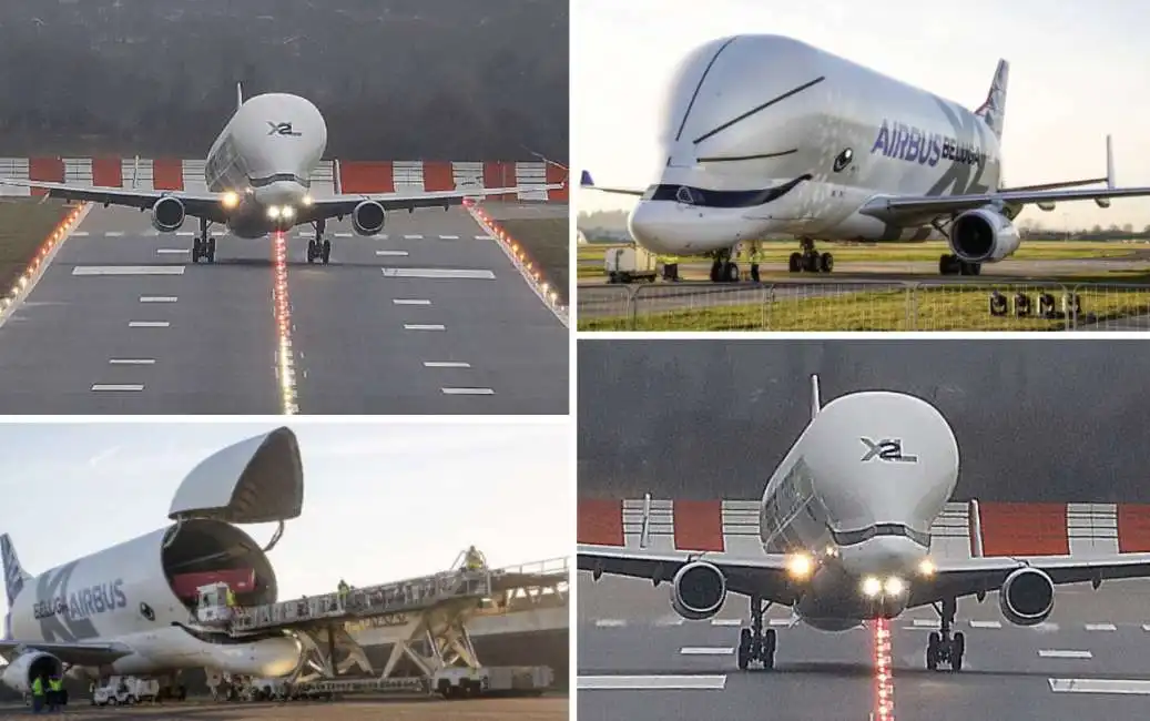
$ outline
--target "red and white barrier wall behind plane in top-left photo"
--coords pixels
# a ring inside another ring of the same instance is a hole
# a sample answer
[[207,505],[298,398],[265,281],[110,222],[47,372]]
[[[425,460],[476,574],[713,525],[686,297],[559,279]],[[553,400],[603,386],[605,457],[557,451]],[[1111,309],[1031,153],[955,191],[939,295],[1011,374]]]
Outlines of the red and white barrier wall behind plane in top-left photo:
[[[135,158],[0,158],[0,177],[103,187],[204,191],[202,160]],[[133,182],[135,178],[135,182]],[[312,178],[315,197],[344,193],[443,191],[566,183],[564,169],[544,162],[439,162],[325,160]],[[28,195],[26,187],[0,185],[0,195]],[[31,194],[43,194],[31,191]],[[567,187],[488,200],[567,202]]]

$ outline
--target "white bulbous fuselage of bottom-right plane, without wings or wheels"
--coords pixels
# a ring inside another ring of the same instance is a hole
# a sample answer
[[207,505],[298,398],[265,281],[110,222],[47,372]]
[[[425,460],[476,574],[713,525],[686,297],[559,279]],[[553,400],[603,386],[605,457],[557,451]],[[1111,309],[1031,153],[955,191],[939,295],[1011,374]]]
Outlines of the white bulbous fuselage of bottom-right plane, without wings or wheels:
[[[871,445],[892,440],[914,460],[896,460],[894,446]],[[861,582],[896,576],[910,591],[929,553],[930,526],[957,482],[958,445],[934,406],[885,391],[827,404],[770,476],[760,508],[767,553],[816,559],[796,614],[822,630],[846,630],[900,613],[906,592],[876,605]],[[905,527],[913,537],[865,532],[883,524]]]

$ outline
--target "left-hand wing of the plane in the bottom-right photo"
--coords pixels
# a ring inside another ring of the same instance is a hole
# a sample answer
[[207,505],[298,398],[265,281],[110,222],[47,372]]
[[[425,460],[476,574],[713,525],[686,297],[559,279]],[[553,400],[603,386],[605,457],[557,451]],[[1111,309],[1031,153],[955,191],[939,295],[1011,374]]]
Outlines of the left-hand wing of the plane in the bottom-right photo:
[[704,560],[727,577],[727,590],[743,596],[759,595],[765,600],[790,606],[797,588],[787,573],[787,557],[761,555],[734,558],[726,553],[689,553],[687,551],[649,551],[619,546],[578,546],[578,569],[591,573],[670,581],[690,561]]

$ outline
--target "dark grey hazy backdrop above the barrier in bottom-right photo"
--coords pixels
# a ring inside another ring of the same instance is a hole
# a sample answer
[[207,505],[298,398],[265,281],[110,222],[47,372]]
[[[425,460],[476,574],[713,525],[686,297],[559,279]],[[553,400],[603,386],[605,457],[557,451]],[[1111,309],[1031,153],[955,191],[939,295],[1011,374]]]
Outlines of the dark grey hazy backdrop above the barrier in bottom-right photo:
[[[953,500],[1150,503],[1137,339],[580,340],[581,498],[758,498],[822,400],[934,404],[958,439]],[[1099,462],[1099,459],[1105,459]]]

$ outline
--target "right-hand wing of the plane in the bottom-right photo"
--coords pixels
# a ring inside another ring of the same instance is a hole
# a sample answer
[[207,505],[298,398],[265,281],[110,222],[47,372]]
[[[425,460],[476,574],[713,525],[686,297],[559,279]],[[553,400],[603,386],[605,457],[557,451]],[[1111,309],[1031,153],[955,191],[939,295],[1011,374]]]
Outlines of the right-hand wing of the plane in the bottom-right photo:
[[922,606],[975,593],[997,591],[1019,568],[1045,572],[1055,585],[1102,582],[1112,578],[1150,577],[1150,553],[1122,553],[1111,557],[1028,555],[938,560],[934,577],[911,584],[910,606]]

